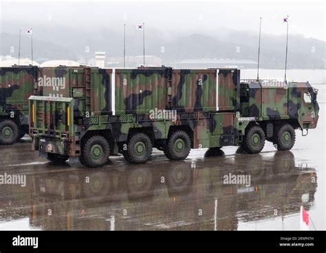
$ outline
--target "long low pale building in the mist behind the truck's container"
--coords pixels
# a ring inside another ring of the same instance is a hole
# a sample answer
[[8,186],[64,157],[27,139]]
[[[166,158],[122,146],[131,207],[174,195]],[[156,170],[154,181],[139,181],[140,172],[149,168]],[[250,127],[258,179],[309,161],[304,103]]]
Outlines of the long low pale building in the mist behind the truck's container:
[[253,69],[257,67],[257,62],[252,60],[237,60],[237,59],[187,59],[175,63],[177,68],[189,68],[189,69],[202,69],[202,68],[214,68],[214,67],[229,67],[239,69]]

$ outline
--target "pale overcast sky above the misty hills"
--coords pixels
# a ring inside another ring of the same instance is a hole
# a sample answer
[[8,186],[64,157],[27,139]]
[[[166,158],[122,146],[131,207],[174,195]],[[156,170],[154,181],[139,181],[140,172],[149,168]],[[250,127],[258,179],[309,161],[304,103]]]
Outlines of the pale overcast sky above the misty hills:
[[[259,30],[285,34],[283,18],[289,15],[290,34],[325,41],[325,1],[7,1],[0,0],[1,28],[9,23],[67,25],[118,30],[123,23],[134,28],[145,23],[146,31],[166,34],[215,33],[220,28]],[[36,25],[37,27],[37,25]],[[8,30],[6,30],[8,32]],[[15,33],[16,31],[13,31]]]

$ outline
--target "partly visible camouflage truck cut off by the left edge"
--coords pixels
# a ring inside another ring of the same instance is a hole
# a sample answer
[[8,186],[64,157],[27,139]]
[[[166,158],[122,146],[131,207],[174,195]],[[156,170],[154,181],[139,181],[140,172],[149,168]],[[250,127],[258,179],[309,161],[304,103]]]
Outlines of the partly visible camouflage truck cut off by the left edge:
[[34,94],[37,67],[0,67],[0,144],[28,133],[28,98]]

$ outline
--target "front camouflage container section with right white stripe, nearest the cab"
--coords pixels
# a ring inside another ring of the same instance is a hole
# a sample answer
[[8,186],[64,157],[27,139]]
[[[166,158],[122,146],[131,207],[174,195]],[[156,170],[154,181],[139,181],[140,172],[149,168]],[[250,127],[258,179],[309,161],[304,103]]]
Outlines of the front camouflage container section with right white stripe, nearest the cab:
[[233,111],[237,106],[237,69],[175,69],[172,108],[178,111]]

